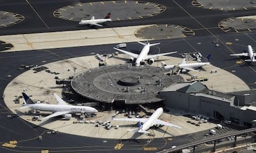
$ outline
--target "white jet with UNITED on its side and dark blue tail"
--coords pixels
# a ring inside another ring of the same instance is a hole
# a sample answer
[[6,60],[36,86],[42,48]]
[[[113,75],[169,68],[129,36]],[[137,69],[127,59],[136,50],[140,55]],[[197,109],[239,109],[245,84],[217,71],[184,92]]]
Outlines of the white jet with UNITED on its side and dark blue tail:
[[45,118],[42,118],[42,120],[46,120],[52,117],[57,117],[60,115],[63,115],[63,117],[66,118],[66,120],[70,120],[70,118],[72,117],[71,114],[75,114],[75,113],[95,114],[96,112],[98,112],[98,110],[96,110],[93,107],[68,105],[66,102],[64,102],[61,99],[61,97],[59,97],[55,93],[54,93],[54,96],[58,101],[58,104],[35,104],[35,102],[33,102],[32,99],[30,99],[30,97],[27,96],[27,94],[22,93],[22,96],[24,98],[24,104],[22,104],[23,105],[22,109],[31,108],[35,110],[53,112],[53,114],[48,115]]

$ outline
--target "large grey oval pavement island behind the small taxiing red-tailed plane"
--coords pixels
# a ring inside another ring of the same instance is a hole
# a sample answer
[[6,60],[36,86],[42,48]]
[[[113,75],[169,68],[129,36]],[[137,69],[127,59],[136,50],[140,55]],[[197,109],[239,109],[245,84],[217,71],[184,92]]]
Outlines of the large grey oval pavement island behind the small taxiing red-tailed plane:
[[64,6],[53,12],[59,19],[80,20],[103,19],[111,13],[112,20],[133,20],[152,17],[161,14],[166,7],[161,4],[145,1],[101,1],[84,2]]

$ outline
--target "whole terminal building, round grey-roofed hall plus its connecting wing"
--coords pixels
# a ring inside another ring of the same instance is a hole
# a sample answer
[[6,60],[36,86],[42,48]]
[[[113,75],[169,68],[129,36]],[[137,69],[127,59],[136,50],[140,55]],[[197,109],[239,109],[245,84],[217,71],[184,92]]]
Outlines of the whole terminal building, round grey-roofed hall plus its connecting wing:
[[129,107],[138,104],[162,105],[193,115],[230,120],[236,125],[256,125],[256,91],[220,93],[200,82],[187,83],[180,75],[166,75],[156,67],[129,64],[97,67],[71,81],[75,93],[100,107]]

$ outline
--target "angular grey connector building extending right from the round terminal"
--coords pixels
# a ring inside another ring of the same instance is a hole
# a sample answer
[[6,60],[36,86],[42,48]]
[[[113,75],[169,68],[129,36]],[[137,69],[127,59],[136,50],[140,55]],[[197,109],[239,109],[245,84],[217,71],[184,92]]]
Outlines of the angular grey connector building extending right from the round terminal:
[[166,107],[194,115],[230,120],[241,126],[254,126],[256,91],[220,93],[211,91],[200,82],[176,83],[164,88],[159,96]]

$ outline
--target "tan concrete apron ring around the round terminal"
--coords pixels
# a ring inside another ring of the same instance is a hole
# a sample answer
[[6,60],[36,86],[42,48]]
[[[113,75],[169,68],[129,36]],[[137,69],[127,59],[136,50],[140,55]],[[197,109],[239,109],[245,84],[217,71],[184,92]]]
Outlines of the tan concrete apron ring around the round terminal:
[[[121,58],[109,58],[106,59],[106,63],[109,65],[124,64],[127,62],[127,55],[119,54]],[[122,59],[122,60],[121,60]],[[160,57],[159,60],[164,60],[166,64],[177,64],[182,59],[176,57]],[[95,56],[85,56],[76,57],[72,59],[59,60],[58,62],[53,62],[45,64],[43,66],[48,67],[51,72],[58,72],[59,75],[54,75],[53,73],[47,73],[41,71],[34,73],[34,70],[27,70],[27,72],[22,73],[19,77],[14,78],[14,80],[7,85],[4,91],[4,101],[7,107],[11,109],[14,114],[19,117],[31,122],[35,125],[43,126],[51,130],[58,130],[62,133],[76,134],[79,136],[88,136],[95,138],[114,138],[114,139],[129,139],[129,138],[143,138],[147,139],[146,134],[138,135],[132,132],[127,132],[127,129],[135,128],[136,125],[133,122],[120,122],[111,120],[112,115],[115,113],[114,110],[111,112],[98,112],[95,118],[86,118],[85,120],[93,120],[107,122],[111,121],[112,125],[119,125],[119,129],[111,128],[106,130],[103,126],[95,127],[93,123],[74,123],[77,122],[77,117],[72,117],[71,120],[47,120],[46,122],[32,121],[33,115],[24,115],[25,110],[20,109],[22,106],[23,99],[20,100],[20,104],[15,104],[14,99],[21,96],[22,92],[27,93],[32,96],[33,100],[40,99],[49,104],[56,104],[53,93],[57,93],[61,96],[62,85],[56,85],[54,77],[58,76],[61,78],[69,78],[72,75],[82,73],[87,71],[89,68],[97,67],[99,60]],[[190,62],[190,61],[188,61]],[[154,62],[153,65],[160,65],[158,62]],[[76,68],[74,71],[74,67]],[[214,89],[220,92],[231,92],[231,91],[241,91],[249,89],[248,86],[238,77],[232,73],[221,70],[213,65],[208,65],[204,67],[205,70],[197,72],[198,77],[207,77],[208,81],[204,81],[205,85],[209,89]],[[217,70],[217,73],[210,73],[210,70]],[[189,72],[188,74],[181,74],[182,77],[190,78],[194,72]],[[236,83],[236,85],[234,85]],[[169,137],[169,136],[179,136],[182,134],[195,133],[197,131],[203,131],[207,129],[214,128],[215,123],[202,123],[200,126],[195,126],[187,123],[190,118],[184,117],[182,115],[187,114],[186,112],[180,112],[177,110],[172,110],[168,113],[164,113],[161,116],[162,120],[166,120],[174,125],[181,126],[182,129],[168,128],[163,126],[157,130],[151,129],[152,133],[155,134],[155,138]],[[41,114],[49,114],[49,112],[41,112]],[[124,115],[119,114],[117,118],[122,118]],[[192,120],[191,120],[192,121]],[[193,122],[193,121],[192,121]],[[196,122],[196,121],[194,121]],[[118,131],[118,132],[116,132]]]

